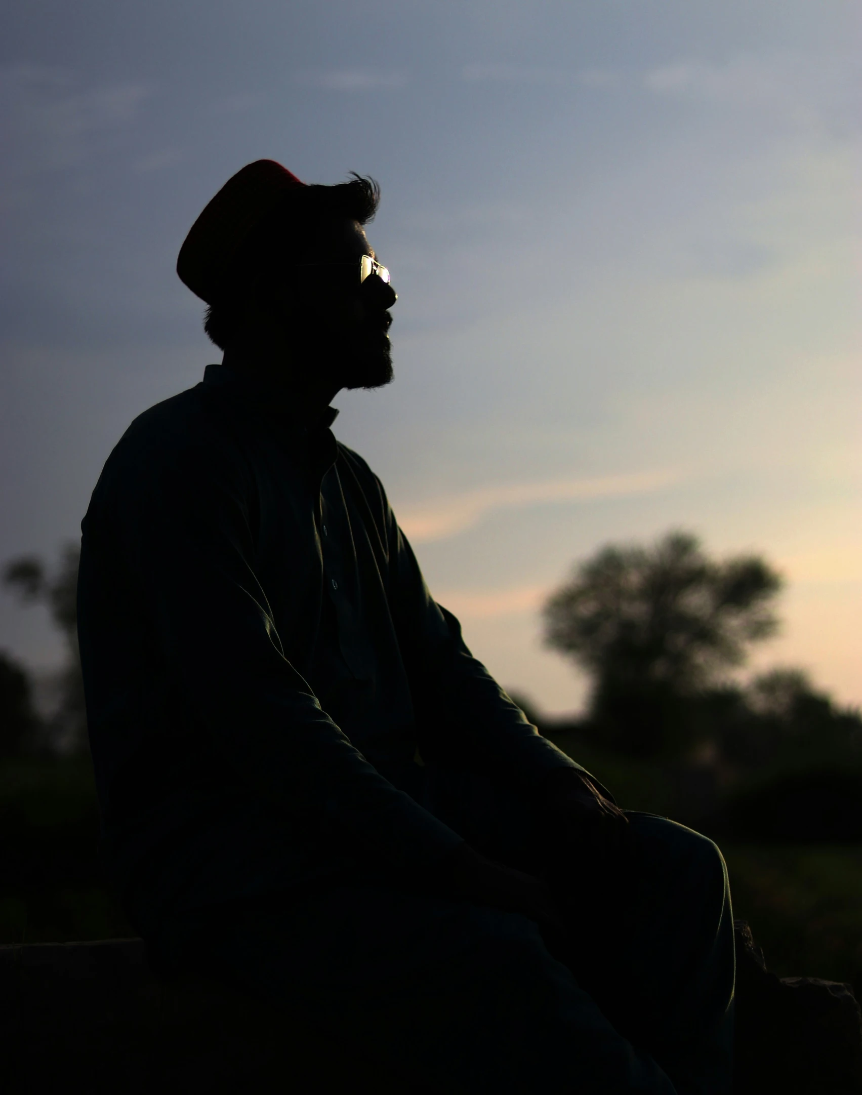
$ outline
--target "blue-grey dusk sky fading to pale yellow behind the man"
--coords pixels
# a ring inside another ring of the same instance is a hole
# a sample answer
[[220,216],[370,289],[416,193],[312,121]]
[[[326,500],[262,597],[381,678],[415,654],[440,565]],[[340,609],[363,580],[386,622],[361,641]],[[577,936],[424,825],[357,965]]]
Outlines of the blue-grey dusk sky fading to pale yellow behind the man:
[[[862,704],[859,9],[838,0],[5,0],[0,563],[80,534],[129,422],[220,360],[174,272],[243,164],[379,180],[395,382],[336,436],[501,683],[671,528],[785,577],[752,668]],[[0,647],[61,656],[0,597]]]

